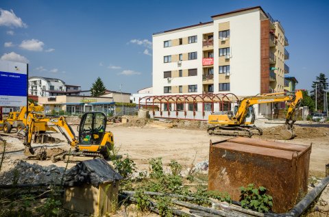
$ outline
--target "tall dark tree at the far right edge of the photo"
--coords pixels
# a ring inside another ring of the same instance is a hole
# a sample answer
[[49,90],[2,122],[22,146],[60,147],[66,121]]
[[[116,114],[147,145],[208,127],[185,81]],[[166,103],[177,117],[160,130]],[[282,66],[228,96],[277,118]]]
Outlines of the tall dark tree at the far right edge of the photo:
[[327,77],[324,73],[320,73],[317,76],[317,80],[313,81],[312,88],[313,90],[310,91],[310,97],[315,101],[315,91],[317,92],[317,109],[324,110],[324,90],[328,90],[328,82]]

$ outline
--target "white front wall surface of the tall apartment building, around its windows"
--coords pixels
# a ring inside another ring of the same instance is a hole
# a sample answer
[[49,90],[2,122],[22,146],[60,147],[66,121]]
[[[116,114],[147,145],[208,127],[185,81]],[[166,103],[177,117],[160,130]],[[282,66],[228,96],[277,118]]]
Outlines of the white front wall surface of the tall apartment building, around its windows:
[[[213,32],[214,36],[214,81],[219,80],[219,23],[230,22],[230,91],[239,96],[260,92],[260,12],[251,10],[239,14],[220,16],[212,23],[187,29],[178,29],[153,36],[153,87],[155,95],[163,95],[164,86],[184,86],[197,84],[197,92],[202,94],[202,38]],[[174,47],[163,47],[164,41],[197,35],[197,42]],[[197,60],[164,63],[166,55],[197,51]],[[197,68],[197,76],[163,78],[164,71],[182,68]],[[169,81],[170,80],[170,81]],[[214,93],[219,93],[219,82],[214,82]]]

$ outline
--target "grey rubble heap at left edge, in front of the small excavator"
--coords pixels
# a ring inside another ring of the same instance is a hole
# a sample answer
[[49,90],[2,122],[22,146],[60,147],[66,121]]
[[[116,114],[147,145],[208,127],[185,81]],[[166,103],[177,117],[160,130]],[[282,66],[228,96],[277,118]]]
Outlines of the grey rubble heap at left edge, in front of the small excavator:
[[53,164],[50,166],[40,166],[36,163],[29,164],[23,160],[18,160],[14,168],[1,174],[0,184],[9,185],[15,182],[17,184],[60,183],[64,169]]

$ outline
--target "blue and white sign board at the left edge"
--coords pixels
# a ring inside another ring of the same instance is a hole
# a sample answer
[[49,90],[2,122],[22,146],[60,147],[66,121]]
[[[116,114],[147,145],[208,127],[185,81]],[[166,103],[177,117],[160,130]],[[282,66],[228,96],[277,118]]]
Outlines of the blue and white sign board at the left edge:
[[27,64],[0,60],[0,106],[27,103]]

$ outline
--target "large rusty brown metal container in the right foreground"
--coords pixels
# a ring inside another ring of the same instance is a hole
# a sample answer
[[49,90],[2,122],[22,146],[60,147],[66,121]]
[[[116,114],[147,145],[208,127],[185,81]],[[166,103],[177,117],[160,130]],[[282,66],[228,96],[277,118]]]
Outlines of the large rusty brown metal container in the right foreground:
[[241,186],[264,186],[273,211],[287,212],[307,193],[311,145],[252,138],[210,140],[208,190],[239,201]]

